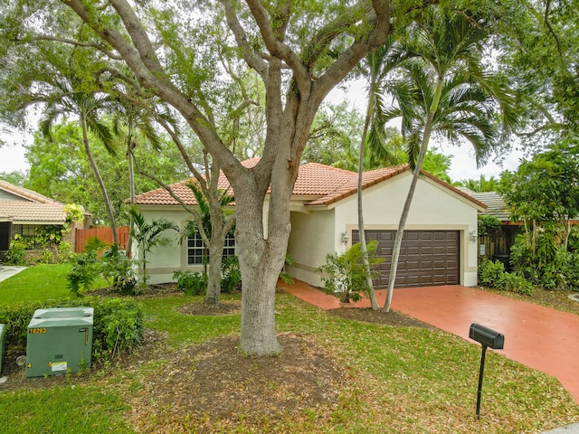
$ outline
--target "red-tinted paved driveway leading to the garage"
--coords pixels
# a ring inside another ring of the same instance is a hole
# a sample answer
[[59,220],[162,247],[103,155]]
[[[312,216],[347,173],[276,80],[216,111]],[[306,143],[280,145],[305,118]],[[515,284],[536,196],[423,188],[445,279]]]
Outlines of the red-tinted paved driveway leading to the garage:
[[[323,309],[339,307],[336,297],[303,282],[281,286]],[[380,307],[385,292],[376,291]],[[364,299],[354,306],[370,303]],[[501,354],[554,376],[579,403],[579,316],[460,286],[396,289],[392,308],[465,339],[472,323],[502,333]]]

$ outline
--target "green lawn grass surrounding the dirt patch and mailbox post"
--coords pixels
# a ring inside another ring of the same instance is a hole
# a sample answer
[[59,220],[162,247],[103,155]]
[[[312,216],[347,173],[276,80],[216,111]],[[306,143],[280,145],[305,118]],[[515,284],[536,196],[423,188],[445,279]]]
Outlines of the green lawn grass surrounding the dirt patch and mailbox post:
[[[65,267],[34,269],[0,282],[0,307],[69,296]],[[39,281],[49,279],[50,284],[39,288]],[[176,347],[239,331],[239,315],[192,319],[177,312],[200,299],[143,300],[147,327],[165,331]],[[358,323],[330,316],[286,294],[277,297],[276,312],[280,332],[307,335],[338,361],[348,388],[331,408],[264,419],[258,428],[240,422],[223,432],[530,433],[579,420],[579,407],[554,378],[494,352],[487,354],[481,419],[476,420],[480,347],[457,336]],[[79,383],[71,375],[66,385],[45,390],[0,392],[0,427],[14,433],[132,432],[124,422],[128,411],[124,402],[138,393],[147,373],[161,369],[163,363],[91,373]],[[159,426],[159,432],[162,429]]]

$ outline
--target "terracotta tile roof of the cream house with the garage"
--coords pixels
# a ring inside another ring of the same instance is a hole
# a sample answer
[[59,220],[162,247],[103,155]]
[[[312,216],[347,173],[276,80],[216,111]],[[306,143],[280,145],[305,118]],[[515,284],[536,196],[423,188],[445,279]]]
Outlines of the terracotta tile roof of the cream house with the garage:
[[[242,162],[246,167],[252,167],[259,161],[259,158],[252,158]],[[408,165],[398,165],[365,172],[362,178],[362,189],[372,185],[382,183],[386,179],[395,175],[403,174],[409,170]],[[422,175],[427,176],[434,182],[441,184],[454,193],[479,207],[485,208],[484,203],[471,197],[467,193],[454,188],[450,184],[441,181],[424,171]],[[194,179],[188,179],[180,183],[170,185],[171,190],[187,205],[195,205],[195,196],[186,184],[194,183]],[[336,203],[352,194],[357,193],[358,175],[356,172],[338,169],[329,165],[318,163],[307,163],[299,166],[298,178],[293,189],[294,198],[301,197],[305,205],[330,205]],[[229,183],[224,175],[220,177],[219,188],[225,190],[229,188]],[[147,193],[138,194],[135,203],[139,205],[177,205],[178,202],[164,188],[157,188]]]

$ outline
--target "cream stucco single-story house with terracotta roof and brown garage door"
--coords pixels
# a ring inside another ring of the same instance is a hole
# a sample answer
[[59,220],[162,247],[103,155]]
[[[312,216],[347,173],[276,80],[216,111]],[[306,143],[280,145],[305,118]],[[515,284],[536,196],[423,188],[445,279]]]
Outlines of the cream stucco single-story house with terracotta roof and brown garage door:
[[[243,164],[254,165],[256,159]],[[366,172],[363,181],[365,231],[368,239],[379,241],[378,254],[384,257],[376,288],[387,286],[389,259],[403,203],[412,179],[407,165]],[[195,197],[187,182],[171,185],[187,204]],[[222,187],[227,187],[223,176]],[[147,222],[165,218],[185,228],[191,216],[166,190],[139,194],[135,203]],[[422,172],[406,223],[403,250],[399,259],[396,288],[477,284],[477,213],[483,203]],[[268,201],[264,204],[267,222]],[[359,238],[357,231],[357,174],[328,165],[300,165],[290,203],[291,234],[288,253],[294,264],[286,271],[293,278],[322,286],[318,267],[328,253],[343,252]],[[267,223],[264,223],[267,224]],[[264,228],[267,233],[267,228]],[[176,237],[177,238],[177,237]],[[228,240],[224,253],[234,252]],[[137,251],[137,250],[133,250]],[[176,270],[201,271],[203,241],[189,238],[157,246],[147,255],[151,283],[172,280]]]

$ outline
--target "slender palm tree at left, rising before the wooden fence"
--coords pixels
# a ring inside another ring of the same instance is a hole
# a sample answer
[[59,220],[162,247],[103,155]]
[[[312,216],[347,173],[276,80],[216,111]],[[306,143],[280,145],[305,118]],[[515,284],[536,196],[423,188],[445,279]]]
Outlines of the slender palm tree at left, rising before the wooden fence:
[[48,93],[37,93],[27,98],[21,105],[24,109],[34,104],[44,104],[43,118],[40,128],[47,137],[51,136],[51,127],[56,120],[67,115],[76,116],[81,124],[82,146],[89,160],[90,168],[97,178],[100,192],[105,201],[109,214],[110,229],[112,230],[113,243],[118,243],[117,224],[112,203],[107,193],[99,168],[97,167],[92,152],[90,151],[90,135],[102,142],[111,155],[115,155],[112,134],[109,127],[100,121],[100,113],[113,107],[109,97],[103,93],[84,90],[82,83],[68,80],[64,77],[52,77],[44,81],[50,87]]

